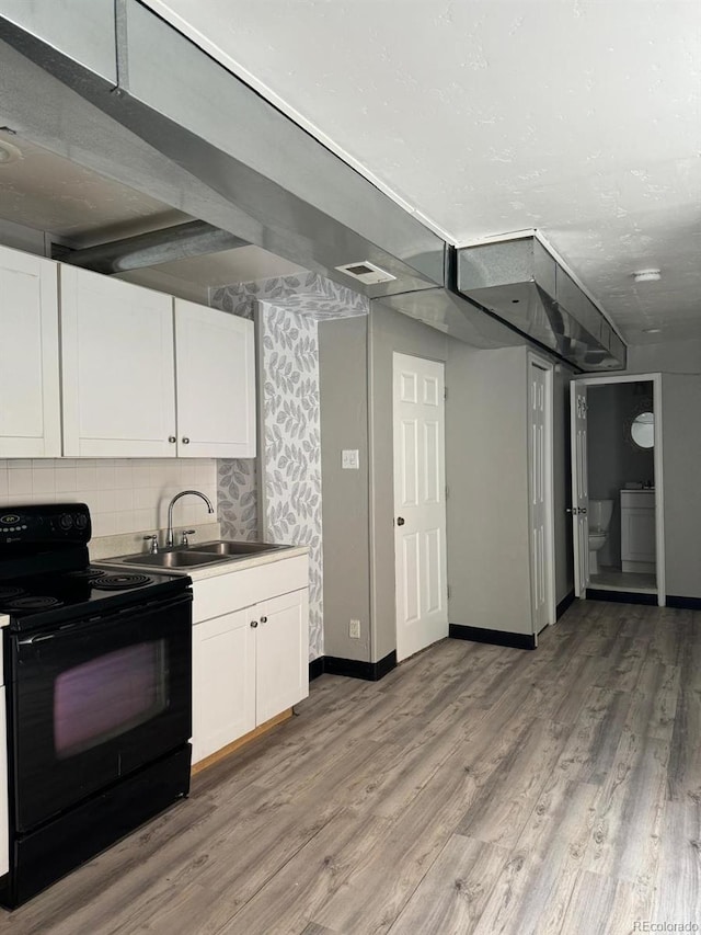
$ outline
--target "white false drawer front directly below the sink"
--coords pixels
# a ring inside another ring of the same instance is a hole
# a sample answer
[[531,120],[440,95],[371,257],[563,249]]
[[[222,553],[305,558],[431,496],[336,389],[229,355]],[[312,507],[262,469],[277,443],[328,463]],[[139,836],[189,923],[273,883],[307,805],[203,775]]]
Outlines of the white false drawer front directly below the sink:
[[275,594],[287,594],[309,584],[307,556],[280,559],[193,584],[193,623],[250,607]]

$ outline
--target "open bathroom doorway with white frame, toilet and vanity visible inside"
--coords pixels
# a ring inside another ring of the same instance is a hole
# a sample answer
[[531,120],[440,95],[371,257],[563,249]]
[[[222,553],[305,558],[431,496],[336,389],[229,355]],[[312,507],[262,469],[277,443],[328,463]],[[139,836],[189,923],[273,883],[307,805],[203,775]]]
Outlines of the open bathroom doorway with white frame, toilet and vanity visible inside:
[[665,604],[660,392],[658,374],[574,380],[579,597],[624,592]]

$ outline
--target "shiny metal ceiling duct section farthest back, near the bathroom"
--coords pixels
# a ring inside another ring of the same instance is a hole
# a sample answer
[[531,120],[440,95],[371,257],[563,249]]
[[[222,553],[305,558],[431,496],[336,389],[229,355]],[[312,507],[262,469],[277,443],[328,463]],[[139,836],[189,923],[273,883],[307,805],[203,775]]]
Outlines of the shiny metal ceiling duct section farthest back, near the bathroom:
[[625,368],[625,344],[535,235],[459,249],[456,287],[582,370]]

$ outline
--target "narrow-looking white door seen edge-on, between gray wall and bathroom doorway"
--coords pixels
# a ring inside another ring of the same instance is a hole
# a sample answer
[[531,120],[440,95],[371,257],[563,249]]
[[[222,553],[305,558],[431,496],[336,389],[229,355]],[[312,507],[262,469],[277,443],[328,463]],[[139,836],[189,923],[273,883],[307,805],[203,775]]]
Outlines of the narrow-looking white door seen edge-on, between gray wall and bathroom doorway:
[[530,499],[530,568],[533,632],[554,623],[552,561],[552,402],[550,367],[529,363],[528,487]]

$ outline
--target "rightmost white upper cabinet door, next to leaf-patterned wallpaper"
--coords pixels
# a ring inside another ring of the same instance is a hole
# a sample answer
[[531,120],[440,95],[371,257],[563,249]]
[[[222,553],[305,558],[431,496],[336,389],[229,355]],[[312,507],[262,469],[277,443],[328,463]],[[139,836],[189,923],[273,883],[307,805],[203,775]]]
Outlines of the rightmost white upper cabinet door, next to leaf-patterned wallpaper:
[[255,457],[253,322],[175,299],[180,457]]

